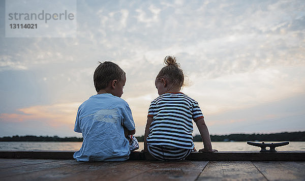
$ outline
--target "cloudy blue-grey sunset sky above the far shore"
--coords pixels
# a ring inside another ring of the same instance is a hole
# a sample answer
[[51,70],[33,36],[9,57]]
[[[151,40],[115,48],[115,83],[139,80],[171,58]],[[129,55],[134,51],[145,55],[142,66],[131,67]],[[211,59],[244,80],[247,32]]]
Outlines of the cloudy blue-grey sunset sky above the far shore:
[[[75,37],[6,38],[0,1],[0,136],[77,136],[100,62],[144,134],[155,78],[174,55],[212,135],[305,130],[303,1],[77,1]],[[65,34],[65,32],[62,32]],[[199,134],[194,124],[194,135]]]

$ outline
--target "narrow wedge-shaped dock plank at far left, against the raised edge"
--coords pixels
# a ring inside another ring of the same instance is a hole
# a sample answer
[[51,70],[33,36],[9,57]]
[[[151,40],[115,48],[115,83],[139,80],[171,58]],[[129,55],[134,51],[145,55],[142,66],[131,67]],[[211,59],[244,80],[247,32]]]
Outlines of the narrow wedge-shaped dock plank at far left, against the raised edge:
[[[0,170],[25,165],[35,165],[39,163],[53,162],[54,160],[37,159],[0,159]],[[1,172],[1,171],[0,171]]]

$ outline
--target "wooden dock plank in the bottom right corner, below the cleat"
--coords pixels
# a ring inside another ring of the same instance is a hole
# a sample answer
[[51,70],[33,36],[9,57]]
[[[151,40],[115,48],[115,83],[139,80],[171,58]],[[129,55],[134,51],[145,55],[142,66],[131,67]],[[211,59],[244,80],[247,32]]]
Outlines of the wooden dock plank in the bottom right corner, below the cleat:
[[304,162],[253,162],[268,180],[305,180]]

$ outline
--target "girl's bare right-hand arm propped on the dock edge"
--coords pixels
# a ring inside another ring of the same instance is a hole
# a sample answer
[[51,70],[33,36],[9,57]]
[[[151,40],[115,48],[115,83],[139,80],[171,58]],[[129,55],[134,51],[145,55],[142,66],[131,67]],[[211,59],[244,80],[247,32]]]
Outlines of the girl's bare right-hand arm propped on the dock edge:
[[212,149],[210,135],[207,129],[207,126],[204,122],[204,118],[201,118],[196,121],[197,128],[200,132],[202,142],[203,142],[203,149],[200,149],[199,152],[218,152],[217,149]]

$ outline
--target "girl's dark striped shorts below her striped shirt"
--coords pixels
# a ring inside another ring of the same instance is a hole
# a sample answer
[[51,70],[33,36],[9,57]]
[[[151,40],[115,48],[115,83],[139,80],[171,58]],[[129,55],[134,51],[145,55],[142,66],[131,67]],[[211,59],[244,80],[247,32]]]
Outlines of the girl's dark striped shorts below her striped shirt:
[[158,160],[178,161],[185,159],[192,149],[177,148],[173,146],[147,145],[148,152]]

